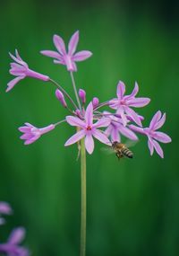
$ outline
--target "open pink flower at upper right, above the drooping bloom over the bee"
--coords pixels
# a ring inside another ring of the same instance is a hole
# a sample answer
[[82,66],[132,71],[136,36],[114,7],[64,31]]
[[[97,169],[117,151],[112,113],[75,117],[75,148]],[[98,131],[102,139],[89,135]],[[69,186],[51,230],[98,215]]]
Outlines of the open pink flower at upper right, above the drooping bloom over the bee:
[[150,99],[149,98],[136,98],[135,95],[139,92],[139,86],[137,83],[135,83],[134,89],[130,95],[125,95],[125,84],[122,81],[119,81],[117,84],[117,98],[109,101],[109,107],[112,109],[117,110],[117,113],[121,115],[121,118],[123,120],[124,126],[127,124],[127,118],[126,115],[130,116],[133,121],[141,125],[141,119],[139,118],[139,115],[132,110],[131,107],[135,108],[141,108],[149,104]]

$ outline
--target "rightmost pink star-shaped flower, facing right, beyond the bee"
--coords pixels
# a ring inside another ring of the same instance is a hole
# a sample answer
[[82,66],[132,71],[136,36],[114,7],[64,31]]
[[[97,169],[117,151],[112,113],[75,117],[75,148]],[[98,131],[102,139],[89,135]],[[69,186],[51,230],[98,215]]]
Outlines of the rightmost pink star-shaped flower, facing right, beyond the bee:
[[164,115],[162,116],[161,111],[158,110],[158,112],[151,119],[149,128],[138,128],[134,125],[130,125],[130,128],[132,128],[132,130],[148,137],[150,154],[152,155],[155,149],[159,156],[162,158],[164,158],[164,153],[161,146],[159,146],[157,140],[162,143],[169,143],[172,141],[171,137],[166,135],[164,132],[156,131],[158,130],[158,128],[161,128],[164,125],[165,121],[166,113],[164,113]]

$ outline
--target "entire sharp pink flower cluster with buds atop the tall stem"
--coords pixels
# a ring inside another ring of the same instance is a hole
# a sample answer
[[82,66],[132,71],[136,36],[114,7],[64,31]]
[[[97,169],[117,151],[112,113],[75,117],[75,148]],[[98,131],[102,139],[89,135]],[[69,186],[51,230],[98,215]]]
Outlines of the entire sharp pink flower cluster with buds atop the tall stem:
[[[34,77],[54,84],[57,87],[55,91],[56,99],[70,112],[70,115],[66,116],[65,119],[48,125],[45,128],[36,128],[29,123],[25,123],[25,126],[19,128],[23,133],[21,139],[25,141],[24,144],[29,145],[35,142],[43,134],[66,122],[70,126],[76,127],[77,132],[65,142],[64,146],[70,146],[84,138],[86,150],[89,154],[92,154],[94,150],[93,138],[98,139],[107,146],[111,146],[114,141],[122,141],[121,135],[131,140],[138,140],[136,134],[141,134],[148,137],[150,154],[153,154],[155,149],[163,158],[163,150],[158,142],[169,143],[171,138],[157,130],[164,125],[166,114],[162,116],[161,111],[157,111],[150,121],[149,128],[143,127],[142,121],[144,118],[135,109],[147,106],[150,99],[136,96],[139,93],[139,85],[135,83],[132,93],[125,94],[125,84],[119,81],[116,88],[116,98],[110,99],[107,102],[99,102],[98,98],[94,97],[86,106],[86,92],[83,89],[77,90],[73,72],[77,71],[76,62],[91,57],[92,53],[89,50],[76,52],[79,42],[79,31],[72,35],[68,44],[68,50],[66,50],[64,40],[60,36],[54,35],[53,41],[57,51],[42,50],[40,53],[47,57],[53,57],[55,64],[66,66],[72,79],[76,102],[73,102],[71,95],[52,78],[31,70],[27,63],[21,59],[17,50],[16,57],[10,54],[15,61],[15,63],[11,64],[10,74],[17,77],[8,84],[6,92],[10,91],[15,84],[26,76]],[[69,103],[67,103],[67,100]],[[104,107],[107,107],[108,110],[101,110]]]

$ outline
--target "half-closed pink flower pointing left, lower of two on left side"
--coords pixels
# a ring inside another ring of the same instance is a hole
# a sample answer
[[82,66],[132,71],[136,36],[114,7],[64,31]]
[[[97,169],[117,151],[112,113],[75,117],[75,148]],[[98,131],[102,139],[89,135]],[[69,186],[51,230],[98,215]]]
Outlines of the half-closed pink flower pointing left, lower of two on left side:
[[19,130],[24,133],[20,138],[24,139],[24,145],[29,145],[35,142],[41,135],[47,133],[48,131],[55,128],[55,125],[49,125],[45,128],[36,128],[30,123],[25,123],[25,126],[19,128]]

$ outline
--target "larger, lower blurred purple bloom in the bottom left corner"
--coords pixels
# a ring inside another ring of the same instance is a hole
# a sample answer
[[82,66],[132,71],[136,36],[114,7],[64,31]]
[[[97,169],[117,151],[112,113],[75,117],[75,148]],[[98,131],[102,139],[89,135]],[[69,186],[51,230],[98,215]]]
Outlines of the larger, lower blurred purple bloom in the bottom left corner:
[[30,253],[19,245],[25,237],[25,229],[19,227],[13,230],[6,243],[0,243],[0,252],[7,256],[28,256]]

